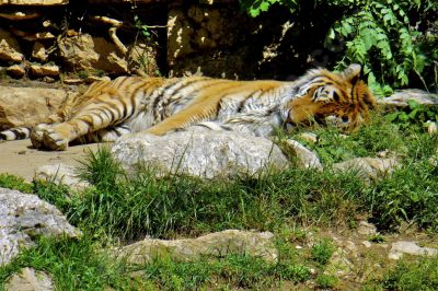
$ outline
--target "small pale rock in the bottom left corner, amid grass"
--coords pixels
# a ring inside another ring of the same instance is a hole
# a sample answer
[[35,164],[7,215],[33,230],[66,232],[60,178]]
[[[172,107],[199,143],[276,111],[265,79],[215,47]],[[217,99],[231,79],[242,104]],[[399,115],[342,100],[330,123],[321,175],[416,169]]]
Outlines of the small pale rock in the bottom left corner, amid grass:
[[5,291],[49,291],[55,290],[51,278],[42,271],[23,268],[20,273],[13,275],[5,283]]

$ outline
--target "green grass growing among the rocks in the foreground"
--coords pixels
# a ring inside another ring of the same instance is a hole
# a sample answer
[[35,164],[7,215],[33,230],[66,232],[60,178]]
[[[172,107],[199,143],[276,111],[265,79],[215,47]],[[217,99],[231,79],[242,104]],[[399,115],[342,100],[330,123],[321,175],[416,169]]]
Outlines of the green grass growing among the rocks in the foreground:
[[[51,273],[59,290],[269,289],[308,281],[330,289],[338,284],[337,277],[324,273],[335,246],[323,238],[309,249],[297,251],[296,244],[306,245],[308,240],[303,228],[348,229],[359,219],[368,219],[380,234],[405,222],[430,233],[438,231],[438,165],[430,161],[438,158],[437,137],[429,137],[420,125],[401,126],[379,115],[348,137],[335,128],[312,130],[319,142],[301,141],[320,155],[324,172],[291,167],[234,181],[157,178],[148,168],[126,175],[102,148],[90,153],[82,165],[81,177],[93,186],[80,194],[72,195],[62,185],[30,184],[0,175],[0,186],[38,195],[85,234],[79,241],[41,238],[36,248],[0,268],[0,282],[31,266]],[[291,137],[300,140],[303,131],[298,129]],[[376,156],[381,151],[394,152],[402,166],[380,181],[366,183],[355,173],[330,170],[334,163]],[[99,251],[145,235],[173,238],[226,229],[274,232],[279,261],[269,265],[234,255],[192,263],[164,259],[132,267]],[[382,237],[370,240],[380,242]],[[433,290],[438,280],[437,261],[401,263],[367,286],[370,290]]]

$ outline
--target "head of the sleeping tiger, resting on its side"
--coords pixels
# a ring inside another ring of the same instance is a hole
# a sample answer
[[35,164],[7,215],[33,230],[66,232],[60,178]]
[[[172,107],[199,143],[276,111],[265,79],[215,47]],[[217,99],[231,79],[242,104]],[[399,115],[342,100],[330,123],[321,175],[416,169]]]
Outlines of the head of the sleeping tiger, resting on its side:
[[322,120],[356,129],[368,120],[369,109],[377,105],[371,91],[359,79],[360,69],[360,65],[354,63],[339,73],[311,70],[297,81],[298,90],[286,105],[286,121]]

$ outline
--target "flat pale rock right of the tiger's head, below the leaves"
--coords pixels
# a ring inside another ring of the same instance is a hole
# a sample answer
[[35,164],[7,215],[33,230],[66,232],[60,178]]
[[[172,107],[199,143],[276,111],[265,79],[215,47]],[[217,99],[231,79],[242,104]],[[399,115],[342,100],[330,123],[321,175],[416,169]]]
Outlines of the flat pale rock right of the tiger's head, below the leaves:
[[417,89],[397,91],[389,97],[379,98],[378,103],[387,107],[407,107],[407,102],[411,100],[427,106],[438,105],[438,94],[430,94]]

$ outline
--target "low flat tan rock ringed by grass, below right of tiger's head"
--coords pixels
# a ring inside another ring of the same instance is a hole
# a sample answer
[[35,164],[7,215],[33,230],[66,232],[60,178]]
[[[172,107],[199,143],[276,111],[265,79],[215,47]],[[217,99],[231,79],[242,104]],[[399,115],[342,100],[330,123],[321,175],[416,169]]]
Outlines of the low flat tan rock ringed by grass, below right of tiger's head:
[[355,158],[333,164],[333,170],[339,172],[357,172],[364,179],[379,179],[391,174],[399,166],[395,158]]

